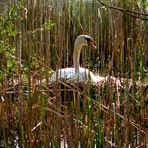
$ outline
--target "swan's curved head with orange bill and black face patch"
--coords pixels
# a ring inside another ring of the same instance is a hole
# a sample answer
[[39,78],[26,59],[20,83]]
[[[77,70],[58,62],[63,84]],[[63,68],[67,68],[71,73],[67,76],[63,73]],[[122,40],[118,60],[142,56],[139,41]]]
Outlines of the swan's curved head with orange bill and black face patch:
[[81,46],[89,46],[92,48],[97,48],[94,40],[88,35],[79,35],[75,41],[75,44],[79,44]]

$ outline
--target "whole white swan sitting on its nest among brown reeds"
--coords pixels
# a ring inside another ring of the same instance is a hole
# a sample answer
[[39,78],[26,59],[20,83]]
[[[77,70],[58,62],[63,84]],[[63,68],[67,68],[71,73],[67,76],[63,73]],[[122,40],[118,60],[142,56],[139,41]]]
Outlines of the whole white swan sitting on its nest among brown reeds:
[[74,53],[73,53],[73,65],[71,68],[58,69],[53,73],[50,82],[56,81],[58,79],[66,80],[90,80],[91,82],[98,82],[103,80],[102,77],[95,76],[91,71],[86,68],[79,66],[79,58],[82,46],[89,46],[92,48],[97,48],[94,40],[88,35],[79,35],[74,44]]

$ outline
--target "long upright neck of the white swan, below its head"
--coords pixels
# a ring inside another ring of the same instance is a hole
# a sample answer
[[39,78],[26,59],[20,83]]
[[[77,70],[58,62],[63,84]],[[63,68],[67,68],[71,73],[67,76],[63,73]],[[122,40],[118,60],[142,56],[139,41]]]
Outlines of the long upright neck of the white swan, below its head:
[[79,72],[79,59],[80,59],[81,48],[82,45],[76,42],[74,45],[74,53],[73,53],[73,64],[76,73]]

